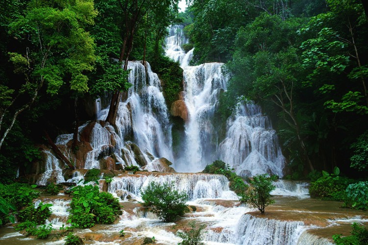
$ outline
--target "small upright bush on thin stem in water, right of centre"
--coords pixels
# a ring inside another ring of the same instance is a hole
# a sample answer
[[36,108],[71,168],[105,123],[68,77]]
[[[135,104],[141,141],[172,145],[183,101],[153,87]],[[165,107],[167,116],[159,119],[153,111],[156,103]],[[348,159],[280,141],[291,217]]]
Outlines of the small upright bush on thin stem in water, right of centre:
[[275,176],[269,177],[268,174],[253,176],[253,179],[249,181],[250,188],[241,196],[240,201],[258,208],[263,214],[265,207],[275,202],[270,195],[276,189],[276,186],[272,184],[275,179]]

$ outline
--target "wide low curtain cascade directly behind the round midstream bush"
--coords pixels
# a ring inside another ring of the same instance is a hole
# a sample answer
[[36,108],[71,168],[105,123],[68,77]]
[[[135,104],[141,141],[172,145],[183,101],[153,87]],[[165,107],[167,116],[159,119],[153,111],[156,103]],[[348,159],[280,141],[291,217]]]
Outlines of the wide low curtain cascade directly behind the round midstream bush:
[[175,189],[184,191],[189,200],[224,197],[237,199],[237,195],[229,189],[227,178],[218,174],[176,173],[114,177],[108,191],[115,195],[120,193],[122,196],[127,196],[129,193],[133,197],[139,197],[141,188],[153,181],[160,184],[174,182]]

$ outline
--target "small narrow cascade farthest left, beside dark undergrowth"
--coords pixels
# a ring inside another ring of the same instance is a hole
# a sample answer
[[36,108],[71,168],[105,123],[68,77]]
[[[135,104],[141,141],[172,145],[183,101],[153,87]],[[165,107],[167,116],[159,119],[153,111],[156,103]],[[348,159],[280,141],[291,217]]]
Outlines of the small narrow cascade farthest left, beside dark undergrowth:
[[46,154],[46,169],[38,178],[37,185],[47,185],[48,182],[61,183],[65,182],[65,178],[62,173],[62,166],[64,165],[59,159],[57,159],[50,150],[43,151]]

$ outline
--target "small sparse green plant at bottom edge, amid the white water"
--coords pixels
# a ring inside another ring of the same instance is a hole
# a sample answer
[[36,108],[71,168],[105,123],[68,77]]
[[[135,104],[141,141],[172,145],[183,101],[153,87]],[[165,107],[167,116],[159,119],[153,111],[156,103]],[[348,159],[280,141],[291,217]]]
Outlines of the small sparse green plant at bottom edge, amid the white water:
[[201,224],[197,227],[195,221],[190,221],[188,225],[191,229],[183,227],[183,231],[176,232],[175,235],[183,239],[183,241],[178,243],[178,245],[204,245],[202,241],[205,233],[207,233],[205,230],[206,225]]

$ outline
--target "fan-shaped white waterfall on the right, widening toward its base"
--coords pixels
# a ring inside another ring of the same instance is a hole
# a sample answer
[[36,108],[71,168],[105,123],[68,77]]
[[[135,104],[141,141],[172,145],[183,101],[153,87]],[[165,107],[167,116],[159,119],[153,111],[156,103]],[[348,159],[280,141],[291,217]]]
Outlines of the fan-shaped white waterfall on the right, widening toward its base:
[[234,119],[229,119],[228,128],[226,139],[219,145],[220,159],[238,175],[272,173],[283,176],[285,159],[276,132],[260,106],[241,105]]

